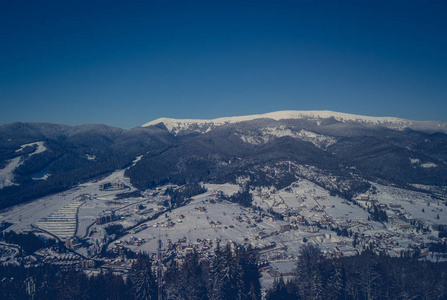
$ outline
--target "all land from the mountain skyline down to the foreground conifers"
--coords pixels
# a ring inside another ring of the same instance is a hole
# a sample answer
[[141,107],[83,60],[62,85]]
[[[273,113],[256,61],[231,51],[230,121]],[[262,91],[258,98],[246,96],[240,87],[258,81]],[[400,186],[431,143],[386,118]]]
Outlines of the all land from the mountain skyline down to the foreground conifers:
[[[437,125],[278,112],[129,131],[20,125],[37,133],[17,141],[6,126],[0,263],[126,276],[138,253],[181,265],[241,245],[255,249],[266,290],[306,245],[327,259],[447,261],[447,135]],[[45,242],[24,253],[11,232]]]

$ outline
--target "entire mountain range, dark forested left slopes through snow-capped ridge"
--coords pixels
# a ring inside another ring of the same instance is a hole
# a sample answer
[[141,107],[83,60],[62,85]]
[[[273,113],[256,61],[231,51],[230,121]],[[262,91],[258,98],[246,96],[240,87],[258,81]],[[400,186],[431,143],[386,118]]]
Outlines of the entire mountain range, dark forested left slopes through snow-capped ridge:
[[[142,156],[133,166],[132,161]],[[329,111],[107,125],[0,126],[0,208],[126,170],[140,190],[188,182],[286,187],[305,178],[345,198],[371,182],[447,186],[447,124]]]

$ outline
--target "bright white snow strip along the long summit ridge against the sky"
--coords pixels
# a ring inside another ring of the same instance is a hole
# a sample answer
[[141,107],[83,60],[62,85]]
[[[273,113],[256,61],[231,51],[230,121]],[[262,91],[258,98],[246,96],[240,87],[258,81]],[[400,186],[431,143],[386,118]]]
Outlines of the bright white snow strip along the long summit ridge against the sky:
[[411,121],[394,117],[369,117],[361,115],[353,115],[347,113],[339,113],[333,111],[278,111],[260,115],[227,117],[218,119],[172,119],[160,118],[148,122],[142,127],[148,127],[157,124],[164,124],[166,128],[173,134],[181,131],[207,132],[215,127],[226,124],[234,124],[256,119],[272,119],[272,120],[288,120],[288,119],[308,119],[308,120],[324,120],[335,119],[339,122],[357,122],[370,125],[379,125],[392,129],[403,130],[410,128],[424,132],[444,132],[447,133],[447,123],[436,121]]

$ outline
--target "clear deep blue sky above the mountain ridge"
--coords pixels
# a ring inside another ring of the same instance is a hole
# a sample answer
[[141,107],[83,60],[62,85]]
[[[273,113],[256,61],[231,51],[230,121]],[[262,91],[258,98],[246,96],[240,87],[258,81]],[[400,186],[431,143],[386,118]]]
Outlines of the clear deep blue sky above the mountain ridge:
[[0,124],[447,121],[447,1],[0,0]]

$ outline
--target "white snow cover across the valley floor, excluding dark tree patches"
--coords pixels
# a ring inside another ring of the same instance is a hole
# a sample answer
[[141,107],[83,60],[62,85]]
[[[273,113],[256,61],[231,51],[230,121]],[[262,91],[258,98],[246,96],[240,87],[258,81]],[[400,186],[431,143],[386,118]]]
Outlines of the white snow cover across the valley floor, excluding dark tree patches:
[[[134,163],[139,159],[141,157],[136,158]],[[269,167],[272,170],[275,168]],[[358,197],[358,201],[356,198],[347,201],[331,196],[328,190],[306,179],[299,179],[281,190],[272,186],[259,187],[250,192],[254,206],[261,207],[262,211],[225,200],[218,201],[219,192],[231,196],[241,190],[239,184],[202,183],[207,188],[206,193],[193,197],[182,207],[165,211],[161,205],[169,197],[164,192],[175,186],[162,186],[143,191],[142,196],[117,199],[116,194],[135,190],[129,178],[124,177],[124,171],[119,170],[69,191],[9,208],[0,212],[0,220],[13,223],[9,229],[17,232],[37,226],[61,239],[74,235],[86,238],[89,246],[76,251],[89,257],[109,242],[109,250],[120,245],[136,252],[155,253],[156,241],[160,238],[163,247],[166,247],[167,240],[172,243],[184,240],[182,244],[185,247],[195,245],[204,255],[212,253],[213,249],[204,250],[198,240],[219,240],[221,244],[230,241],[250,243],[260,249],[260,259],[268,261],[296,260],[300,248],[306,243],[318,245],[329,256],[335,253],[354,255],[370,244],[374,244],[375,249],[398,256],[409,245],[428,243],[437,235],[437,229],[429,233],[418,232],[416,226],[402,218],[403,215],[407,219],[423,222],[425,227],[447,224],[446,206],[430,194],[373,182],[373,188],[366,191],[363,197]],[[303,167],[301,172],[311,174],[312,170]],[[315,174],[324,177],[325,181],[333,179],[323,173]],[[245,179],[241,178],[241,184]],[[130,188],[124,191],[99,190],[100,184],[116,181]],[[421,187],[432,189],[430,186]],[[373,201],[388,206],[388,222],[370,220],[371,215],[366,207]],[[113,223],[95,223],[96,218],[110,211],[121,218]],[[280,213],[283,219],[275,220],[268,213],[272,211]],[[159,212],[163,213],[151,220]],[[301,217],[304,217],[304,222]],[[113,241],[113,236],[105,234],[105,228],[110,224],[121,224],[127,232],[119,240]],[[285,229],[284,226],[288,224],[290,228]],[[136,225],[140,227],[139,230],[132,229]],[[339,236],[333,231],[334,228],[344,228],[358,234],[356,248],[352,236]],[[179,250],[180,255],[185,252],[185,249]]]

